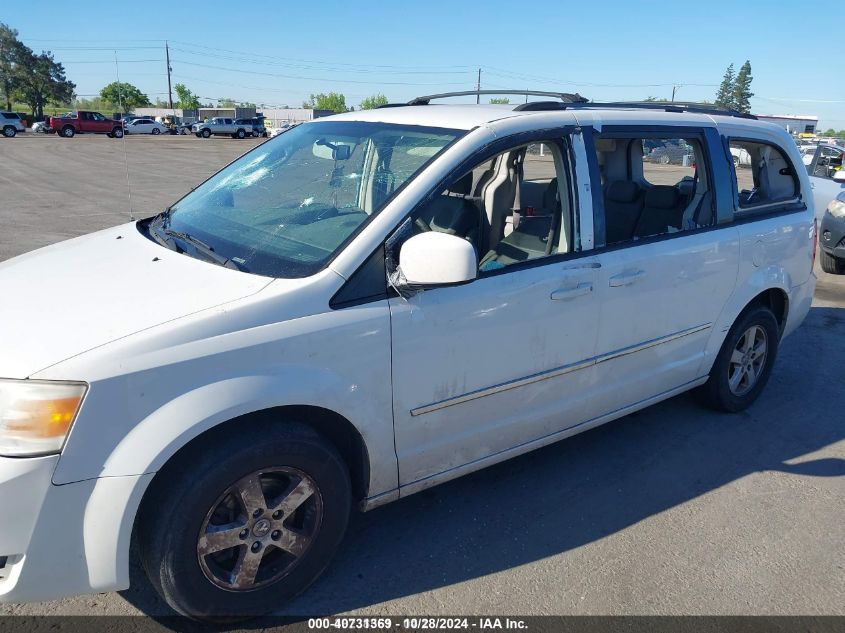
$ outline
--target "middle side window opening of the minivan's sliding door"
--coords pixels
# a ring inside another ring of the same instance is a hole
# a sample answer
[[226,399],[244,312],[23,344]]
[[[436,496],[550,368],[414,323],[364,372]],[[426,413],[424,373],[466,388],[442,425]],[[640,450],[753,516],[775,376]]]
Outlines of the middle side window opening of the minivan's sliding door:
[[713,194],[708,171],[703,169],[706,156],[701,137],[629,132],[599,136],[595,146],[604,197],[605,244],[713,224]]

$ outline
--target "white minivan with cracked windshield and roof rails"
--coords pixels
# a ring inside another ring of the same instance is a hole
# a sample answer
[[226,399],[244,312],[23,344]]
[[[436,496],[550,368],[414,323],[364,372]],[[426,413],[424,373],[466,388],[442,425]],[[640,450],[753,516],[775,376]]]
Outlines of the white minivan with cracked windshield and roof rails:
[[260,614],[354,507],[688,389],[749,406],[815,286],[795,143],[560,96],[319,119],[0,264],[0,600],[124,589],[134,538],[179,613]]

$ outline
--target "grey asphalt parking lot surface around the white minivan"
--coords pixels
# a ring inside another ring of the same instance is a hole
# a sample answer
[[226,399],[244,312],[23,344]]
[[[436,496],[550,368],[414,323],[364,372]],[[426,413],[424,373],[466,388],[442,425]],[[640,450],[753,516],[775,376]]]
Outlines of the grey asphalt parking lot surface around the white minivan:
[[[128,221],[129,190],[156,213],[259,142],[128,137],[124,162],[102,136],[0,139],[0,261]],[[817,275],[748,411],[679,396],[357,516],[283,613],[845,614],[845,277]],[[0,612],[169,613],[132,577]]]

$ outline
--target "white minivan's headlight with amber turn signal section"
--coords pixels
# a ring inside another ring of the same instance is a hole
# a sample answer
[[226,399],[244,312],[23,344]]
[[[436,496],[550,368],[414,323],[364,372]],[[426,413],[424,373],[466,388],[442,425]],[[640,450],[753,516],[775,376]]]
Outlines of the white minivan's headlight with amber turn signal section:
[[61,451],[87,388],[81,383],[0,380],[0,455]]

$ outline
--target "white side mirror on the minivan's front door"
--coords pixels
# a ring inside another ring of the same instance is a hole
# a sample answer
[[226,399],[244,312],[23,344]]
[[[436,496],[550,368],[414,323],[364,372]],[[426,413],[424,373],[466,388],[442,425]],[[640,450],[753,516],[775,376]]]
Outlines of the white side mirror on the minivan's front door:
[[472,244],[436,231],[410,238],[399,251],[399,279],[409,288],[449,286],[475,279],[478,260]]

